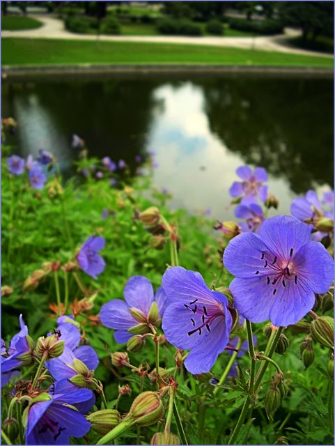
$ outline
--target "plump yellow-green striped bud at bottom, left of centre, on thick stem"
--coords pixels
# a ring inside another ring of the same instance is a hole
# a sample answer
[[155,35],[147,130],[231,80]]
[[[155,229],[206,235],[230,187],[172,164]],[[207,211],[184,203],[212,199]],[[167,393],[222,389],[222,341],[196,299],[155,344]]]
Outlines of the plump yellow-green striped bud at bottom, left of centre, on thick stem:
[[126,418],[132,418],[140,426],[157,423],[164,415],[162,400],[156,392],[142,392],[136,397]]

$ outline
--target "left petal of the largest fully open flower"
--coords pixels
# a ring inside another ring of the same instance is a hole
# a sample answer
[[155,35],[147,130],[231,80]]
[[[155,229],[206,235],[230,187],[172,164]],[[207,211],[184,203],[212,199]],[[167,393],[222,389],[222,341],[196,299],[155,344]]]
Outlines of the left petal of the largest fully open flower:
[[257,234],[242,233],[232,238],[224,250],[224,266],[236,277],[255,277],[264,269],[265,252],[268,249]]

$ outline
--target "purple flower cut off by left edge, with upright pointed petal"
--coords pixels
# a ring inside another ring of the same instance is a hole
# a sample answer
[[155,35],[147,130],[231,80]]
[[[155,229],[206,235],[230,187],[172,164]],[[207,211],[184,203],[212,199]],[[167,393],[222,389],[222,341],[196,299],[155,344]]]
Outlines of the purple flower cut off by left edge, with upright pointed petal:
[[13,369],[21,367],[24,360],[21,358],[31,353],[27,336],[28,328],[24,324],[22,314],[20,314],[20,332],[13,336],[10,345],[6,348],[5,343],[1,339],[1,386],[6,385],[13,375]]

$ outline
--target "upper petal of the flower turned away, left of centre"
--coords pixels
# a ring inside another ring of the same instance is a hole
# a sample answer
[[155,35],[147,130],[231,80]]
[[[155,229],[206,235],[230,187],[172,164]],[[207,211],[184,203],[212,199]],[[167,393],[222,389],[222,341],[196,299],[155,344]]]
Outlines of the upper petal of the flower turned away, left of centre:
[[130,277],[123,291],[125,301],[130,307],[140,309],[148,315],[153,303],[153,285],[144,276]]

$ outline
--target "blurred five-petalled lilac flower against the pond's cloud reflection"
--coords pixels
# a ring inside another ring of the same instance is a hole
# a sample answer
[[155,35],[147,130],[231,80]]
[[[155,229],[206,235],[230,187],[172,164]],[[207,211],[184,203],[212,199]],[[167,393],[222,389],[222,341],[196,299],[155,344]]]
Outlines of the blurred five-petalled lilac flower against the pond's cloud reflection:
[[248,166],[240,166],[236,169],[236,174],[242,178],[242,182],[235,181],[229,193],[231,197],[242,197],[242,203],[255,201],[257,197],[261,201],[267,198],[267,186],[263,185],[267,181],[267,173],[263,167],[255,167],[252,171]]

